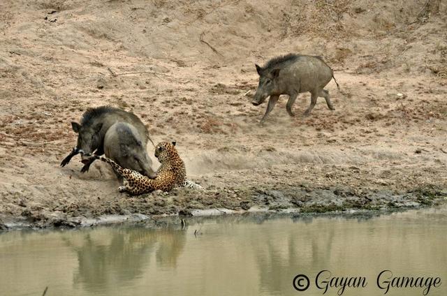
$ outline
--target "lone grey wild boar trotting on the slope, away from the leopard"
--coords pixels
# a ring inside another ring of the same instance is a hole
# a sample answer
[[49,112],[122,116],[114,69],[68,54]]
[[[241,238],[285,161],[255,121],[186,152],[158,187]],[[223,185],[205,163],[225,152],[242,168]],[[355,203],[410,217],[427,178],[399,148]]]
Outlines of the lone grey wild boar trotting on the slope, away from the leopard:
[[263,67],[255,66],[259,74],[259,85],[251,103],[255,106],[261,105],[270,96],[261,124],[272,111],[281,94],[288,94],[289,96],[286,109],[291,116],[295,116],[292,112],[292,106],[298,94],[306,91],[311,94],[311,103],[305,111],[305,115],[310,114],[318,96],[325,98],[330,110],[335,110],[329,98],[329,91],[323,89],[323,87],[332,78],[334,78],[337,88],[339,88],[339,85],[335,80],[332,69],[321,57],[287,54],[271,59]]

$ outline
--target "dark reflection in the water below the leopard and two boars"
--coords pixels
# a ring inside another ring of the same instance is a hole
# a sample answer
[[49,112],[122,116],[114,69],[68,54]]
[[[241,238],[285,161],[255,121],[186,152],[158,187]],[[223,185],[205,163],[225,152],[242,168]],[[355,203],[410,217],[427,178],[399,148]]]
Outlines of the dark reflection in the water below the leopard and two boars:
[[129,286],[129,281],[142,276],[149,267],[152,253],[156,265],[175,268],[186,243],[186,232],[182,230],[117,228],[99,232],[83,234],[80,245],[73,243],[71,235],[64,237],[78,257],[75,288],[83,286],[98,292],[103,287]]

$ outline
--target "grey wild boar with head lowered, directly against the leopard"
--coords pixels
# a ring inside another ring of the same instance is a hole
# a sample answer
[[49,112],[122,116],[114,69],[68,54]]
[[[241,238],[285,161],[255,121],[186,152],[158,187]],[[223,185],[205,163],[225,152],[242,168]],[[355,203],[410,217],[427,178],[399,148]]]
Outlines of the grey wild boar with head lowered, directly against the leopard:
[[[151,168],[152,161],[147,155],[146,145],[137,129],[131,124],[117,122],[110,126],[105,133],[104,154],[123,168],[136,170],[150,178],[156,177]],[[122,176],[115,173],[118,179],[122,180]]]

